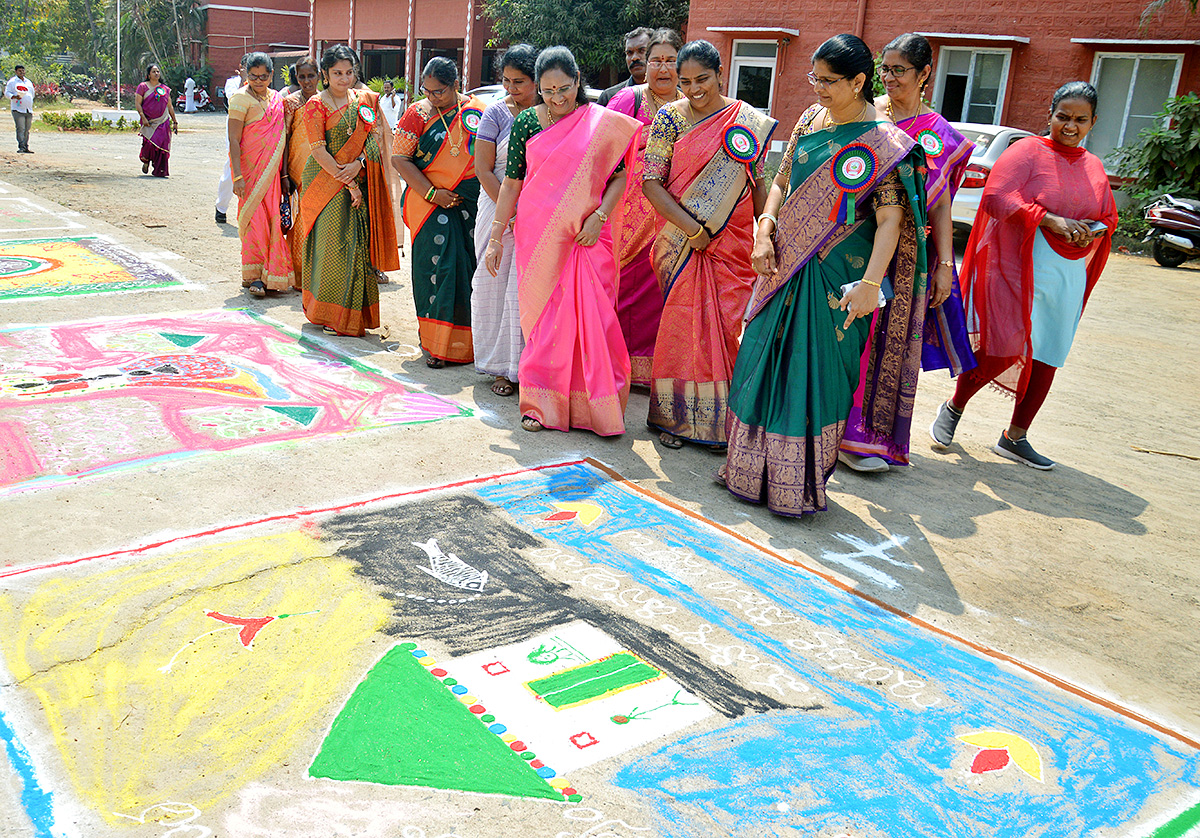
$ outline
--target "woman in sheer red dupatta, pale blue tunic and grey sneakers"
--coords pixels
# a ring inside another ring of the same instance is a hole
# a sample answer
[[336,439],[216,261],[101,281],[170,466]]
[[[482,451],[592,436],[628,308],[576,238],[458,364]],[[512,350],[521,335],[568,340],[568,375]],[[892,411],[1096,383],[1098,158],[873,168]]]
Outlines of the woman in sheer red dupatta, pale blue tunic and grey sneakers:
[[1080,148],[1096,104],[1091,84],[1064,84],[1050,106],[1050,136],[1013,144],[988,176],[961,275],[979,365],[959,376],[938,409],[936,448],[949,447],[967,401],[995,383],[1016,396],[996,453],[1042,471],[1055,466],[1026,431],[1067,360],[1117,223],[1104,163]]

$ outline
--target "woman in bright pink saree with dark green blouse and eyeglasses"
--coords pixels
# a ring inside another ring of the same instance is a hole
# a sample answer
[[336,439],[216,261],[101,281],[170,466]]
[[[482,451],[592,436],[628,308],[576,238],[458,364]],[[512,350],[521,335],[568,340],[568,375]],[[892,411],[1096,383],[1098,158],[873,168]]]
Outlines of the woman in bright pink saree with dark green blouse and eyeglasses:
[[566,47],[541,50],[534,74],[542,104],[512,122],[485,255],[494,275],[504,256],[499,232],[516,210],[526,336],[521,425],[624,433],[629,351],[617,322],[619,268],[608,216],[624,192],[622,160],[641,122],[588,103]]

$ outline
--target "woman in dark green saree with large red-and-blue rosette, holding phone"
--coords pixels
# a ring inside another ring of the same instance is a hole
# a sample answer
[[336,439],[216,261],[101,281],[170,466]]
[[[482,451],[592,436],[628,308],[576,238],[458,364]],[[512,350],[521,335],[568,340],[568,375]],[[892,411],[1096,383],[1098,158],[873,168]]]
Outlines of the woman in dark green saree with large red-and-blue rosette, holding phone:
[[[796,124],[758,216],[760,280],[718,477],[780,515],[826,509],[871,316],[893,288],[911,300],[925,282],[919,157],[866,98],[874,72],[871,50],[853,35],[821,44],[809,73],[817,104]],[[868,363],[864,415],[877,433],[892,430],[896,402],[912,399],[899,371],[880,365],[892,348],[872,346]]]

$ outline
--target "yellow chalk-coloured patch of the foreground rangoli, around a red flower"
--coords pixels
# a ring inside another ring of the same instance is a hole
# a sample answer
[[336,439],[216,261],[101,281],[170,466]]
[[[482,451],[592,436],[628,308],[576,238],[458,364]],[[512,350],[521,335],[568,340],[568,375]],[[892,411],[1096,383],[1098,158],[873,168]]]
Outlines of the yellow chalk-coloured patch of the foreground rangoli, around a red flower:
[[[206,812],[307,758],[390,615],[330,552],[302,532],[262,535],[0,599],[0,650],[40,701],[79,797],[110,824],[163,800]],[[276,619],[250,647],[236,633],[188,644],[214,627],[210,611],[313,613]]]

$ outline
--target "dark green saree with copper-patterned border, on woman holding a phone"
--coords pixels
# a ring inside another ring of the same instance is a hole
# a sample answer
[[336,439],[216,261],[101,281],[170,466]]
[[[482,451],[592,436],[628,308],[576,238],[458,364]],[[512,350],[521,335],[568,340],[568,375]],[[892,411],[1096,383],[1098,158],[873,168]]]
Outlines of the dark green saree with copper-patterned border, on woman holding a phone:
[[[868,146],[876,168],[871,181],[851,196],[859,211],[858,221],[847,225],[832,220],[842,202],[832,170],[844,163],[851,144]],[[894,286],[911,287],[924,274],[924,225],[911,209],[923,206],[924,184],[912,148],[887,122],[841,125],[798,138],[791,194],[775,233],[779,273],[755,288],[730,390],[726,485],[745,499],[766,501],[773,513],[798,516],[827,507],[826,481],[838,465],[870,333],[869,318],[844,328],[841,286],[863,276],[876,231],[871,196],[892,172],[902,196],[887,199],[907,208],[889,276]],[[875,351],[877,375],[868,388],[865,415],[871,430],[882,431],[890,429],[874,423],[890,419],[896,401],[912,394],[905,394],[899,371],[877,366]]]

